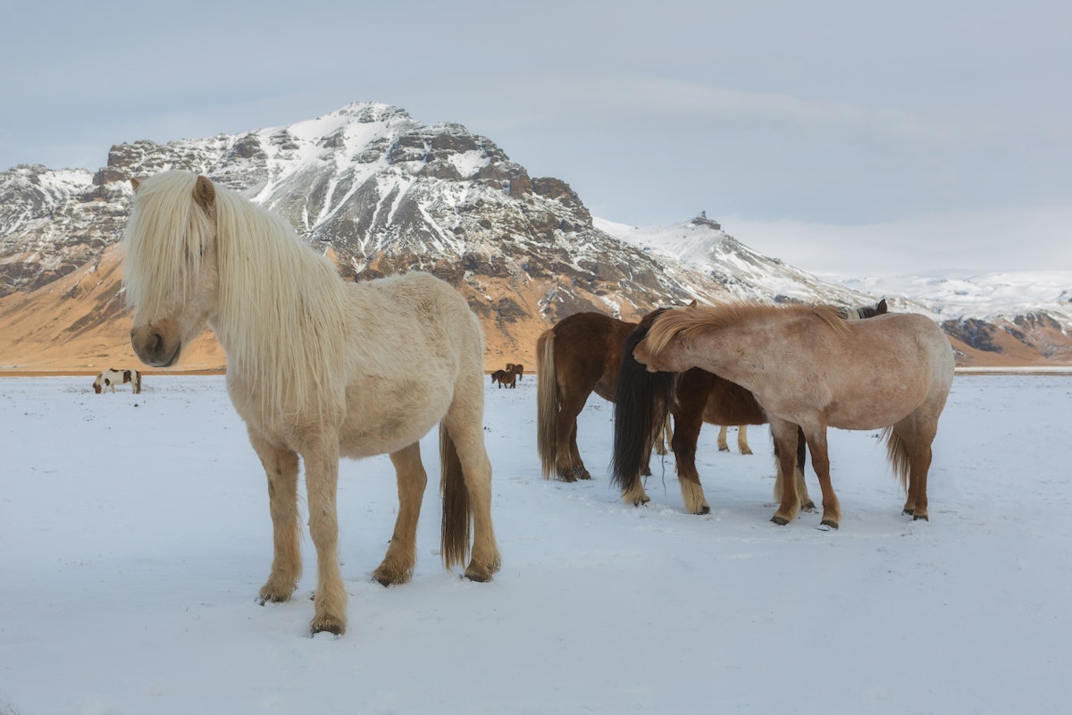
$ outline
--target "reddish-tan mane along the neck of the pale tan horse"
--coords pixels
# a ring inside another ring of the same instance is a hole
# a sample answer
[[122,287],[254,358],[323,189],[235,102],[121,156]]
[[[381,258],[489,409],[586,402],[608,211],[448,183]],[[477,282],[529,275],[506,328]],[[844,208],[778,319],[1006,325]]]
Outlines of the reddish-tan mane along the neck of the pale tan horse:
[[835,306],[771,306],[759,302],[731,302],[720,306],[694,306],[667,310],[654,321],[647,332],[647,349],[652,355],[658,355],[670,341],[681,337],[685,341],[693,340],[708,330],[717,330],[774,314],[815,315],[835,332],[847,331],[848,324]]

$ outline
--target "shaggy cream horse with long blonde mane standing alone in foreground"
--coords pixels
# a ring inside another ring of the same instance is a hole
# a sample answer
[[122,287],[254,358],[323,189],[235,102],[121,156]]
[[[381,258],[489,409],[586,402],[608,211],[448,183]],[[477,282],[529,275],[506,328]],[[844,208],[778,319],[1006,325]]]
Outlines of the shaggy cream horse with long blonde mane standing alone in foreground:
[[399,512],[374,578],[411,578],[428,481],[419,440],[440,423],[442,554],[488,581],[500,567],[483,442],[483,340],[465,299],[427,273],[347,283],[279,217],[203,176],[134,182],[125,234],[131,343],[167,367],[211,326],[227,391],[268,477],[274,557],[260,601],[291,598],[301,572],[298,459],[316,547],[311,629],[342,634],[339,458],[388,453]]

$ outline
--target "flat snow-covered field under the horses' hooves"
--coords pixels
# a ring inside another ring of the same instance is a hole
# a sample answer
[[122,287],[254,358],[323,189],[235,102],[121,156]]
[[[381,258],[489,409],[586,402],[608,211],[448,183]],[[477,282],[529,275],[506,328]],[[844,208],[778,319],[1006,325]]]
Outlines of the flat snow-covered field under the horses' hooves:
[[308,635],[308,535],[296,598],[254,600],[267,490],[223,378],[91,382],[0,379],[0,715],[1057,713],[1072,697],[1072,377],[956,378],[929,522],[900,515],[877,433],[832,431],[836,532],[769,521],[765,428],[751,457],[705,428],[711,515],[683,512],[672,458],[637,509],[607,478],[611,405],[593,397],[580,423],[596,478],[551,482],[533,376],[489,385],[502,571],[441,565],[433,433],[414,579],[371,581],[393,474],[343,462],[342,638]]

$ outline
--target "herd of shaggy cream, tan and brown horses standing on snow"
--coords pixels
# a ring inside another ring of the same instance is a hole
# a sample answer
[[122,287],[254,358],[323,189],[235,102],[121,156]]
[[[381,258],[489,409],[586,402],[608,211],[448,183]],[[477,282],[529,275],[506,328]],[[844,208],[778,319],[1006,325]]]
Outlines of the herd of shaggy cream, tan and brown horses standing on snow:
[[[281,218],[204,176],[165,172],[133,183],[123,240],[131,344],[143,362],[167,367],[209,325],[226,353],[227,390],[268,481],[273,558],[259,601],[288,600],[301,574],[299,459],[317,560],[310,630],[346,627],[340,457],[390,456],[399,509],[373,577],[384,585],[410,580],[428,481],[419,441],[436,424],[444,565],[467,558],[467,578],[491,580],[501,556],[483,341],[465,299],[420,272],[344,281]],[[594,313],[564,318],[537,342],[545,476],[590,478],[576,418],[594,391],[615,404],[611,478],[627,503],[647,501],[640,474],[669,419],[682,496],[695,513],[710,508],[695,462],[702,423],[769,423],[780,490],[773,521],[788,523],[812,506],[806,445],[823,523],[836,527],[827,428],[883,428],[908,493],[905,512],[926,519],[930,442],[952,383],[952,349],[923,316],[851,317],[863,314],[748,303],[661,309],[637,324]],[[511,387],[522,372],[515,364],[492,381]]]

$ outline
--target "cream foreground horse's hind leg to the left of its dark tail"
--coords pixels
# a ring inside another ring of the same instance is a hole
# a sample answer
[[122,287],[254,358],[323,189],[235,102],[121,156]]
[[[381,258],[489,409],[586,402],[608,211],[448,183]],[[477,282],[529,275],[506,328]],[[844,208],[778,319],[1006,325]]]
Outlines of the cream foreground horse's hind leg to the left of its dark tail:
[[417,519],[420,517],[420,505],[428,485],[428,473],[420,460],[419,442],[392,452],[390,457],[398,477],[399,516],[394,520],[394,533],[387,547],[387,554],[372,572],[373,578],[385,586],[405,583],[413,576],[413,567],[417,562]]

